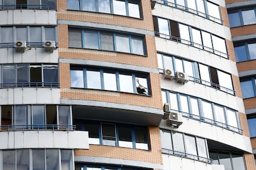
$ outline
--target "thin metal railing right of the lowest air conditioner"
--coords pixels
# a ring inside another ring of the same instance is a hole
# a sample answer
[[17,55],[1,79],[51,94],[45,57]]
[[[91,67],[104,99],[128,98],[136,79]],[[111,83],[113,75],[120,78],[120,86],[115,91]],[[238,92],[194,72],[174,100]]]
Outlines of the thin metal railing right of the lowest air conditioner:
[[193,115],[193,114],[186,113],[186,112],[179,111],[179,110],[173,110],[173,111],[178,111],[178,112],[182,113],[182,117],[184,117],[184,118],[195,119],[197,121],[200,121],[200,122],[203,122],[203,123],[208,123],[208,124],[211,124],[213,126],[218,126],[218,127],[223,128],[223,129],[227,129],[229,131],[236,132],[238,134],[242,134],[242,131],[243,131],[242,129],[239,129],[238,127],[234,127],[234,126],[231,126],[229,124],[222,123],[220,121],[216,121],[216,120],[213,120],[213,119],[205,118],[203,116]]

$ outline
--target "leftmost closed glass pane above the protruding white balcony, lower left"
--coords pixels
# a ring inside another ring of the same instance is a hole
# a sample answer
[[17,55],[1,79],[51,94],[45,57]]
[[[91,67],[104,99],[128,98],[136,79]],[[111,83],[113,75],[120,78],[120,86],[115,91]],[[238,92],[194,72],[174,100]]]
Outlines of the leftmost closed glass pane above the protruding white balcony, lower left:
[[25,128],[26,124],[28,124],[28,108],[27,105],[15,105],[15,115],[14,115],[14,124],[15,125],[23,125],[18,126],[21,128]]

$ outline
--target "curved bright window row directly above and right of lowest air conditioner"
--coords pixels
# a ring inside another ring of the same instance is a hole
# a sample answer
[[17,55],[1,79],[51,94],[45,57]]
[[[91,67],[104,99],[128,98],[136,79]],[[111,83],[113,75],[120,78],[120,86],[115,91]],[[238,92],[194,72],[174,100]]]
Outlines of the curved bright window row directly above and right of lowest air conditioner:
[[238,113],[231,108],[166,90],[162,90],[162,99],[170,104],[171,110],[181,111],[182,116],[241,133]]

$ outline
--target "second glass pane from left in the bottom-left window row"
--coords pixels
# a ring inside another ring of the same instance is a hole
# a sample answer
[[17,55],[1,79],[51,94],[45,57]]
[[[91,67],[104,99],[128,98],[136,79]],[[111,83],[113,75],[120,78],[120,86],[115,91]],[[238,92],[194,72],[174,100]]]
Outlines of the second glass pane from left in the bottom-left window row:
[[16,150],[16,154],[17,154],[17,170],[30,169],[29,150],[19,149],[19,150]]

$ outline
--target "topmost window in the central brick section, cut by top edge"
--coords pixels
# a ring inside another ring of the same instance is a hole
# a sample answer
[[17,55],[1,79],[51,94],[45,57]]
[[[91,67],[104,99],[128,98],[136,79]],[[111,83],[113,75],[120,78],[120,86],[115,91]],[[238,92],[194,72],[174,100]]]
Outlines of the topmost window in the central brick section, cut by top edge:
[[67,0],[67,9],[141,18],[140,0]]

